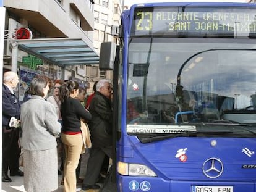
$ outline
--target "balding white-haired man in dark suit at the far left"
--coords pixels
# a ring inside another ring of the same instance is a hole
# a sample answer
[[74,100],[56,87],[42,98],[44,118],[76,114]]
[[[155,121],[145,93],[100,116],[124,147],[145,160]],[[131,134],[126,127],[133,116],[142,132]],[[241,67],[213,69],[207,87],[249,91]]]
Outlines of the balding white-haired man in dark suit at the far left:
[[14,88],[19,83],[17,73],[4,73],[4,84],[2,85],[2,182],[11,182],[10,175],[23,176],[23,172],[19,169],[19,128],[10,126],[10,120],[19,120],[20,103],[14,94]]

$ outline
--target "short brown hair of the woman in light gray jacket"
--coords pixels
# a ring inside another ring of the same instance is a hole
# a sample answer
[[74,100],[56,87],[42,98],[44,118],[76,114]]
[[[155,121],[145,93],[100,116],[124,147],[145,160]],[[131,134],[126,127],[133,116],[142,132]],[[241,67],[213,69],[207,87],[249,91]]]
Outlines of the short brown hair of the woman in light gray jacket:
[[45,96],[43,93],[43,88],[46,88],[48,85],[48,82],[45,78],[33,78],[32,81],[30,81],[30,94],[31,95],[38,95],[38,96]]

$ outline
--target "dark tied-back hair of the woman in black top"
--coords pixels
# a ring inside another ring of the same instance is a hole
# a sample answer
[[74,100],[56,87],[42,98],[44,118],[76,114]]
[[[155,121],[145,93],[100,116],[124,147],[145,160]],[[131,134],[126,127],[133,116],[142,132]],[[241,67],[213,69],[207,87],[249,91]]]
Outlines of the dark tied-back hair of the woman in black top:
[[59,99],[61,102],[64,102],[64,100],[70,96],[70,94],[74,93],[74,90],[77,90],[79,88],[79,84],[77,81],[67,81],[67,83],[62,84],[59,87]]

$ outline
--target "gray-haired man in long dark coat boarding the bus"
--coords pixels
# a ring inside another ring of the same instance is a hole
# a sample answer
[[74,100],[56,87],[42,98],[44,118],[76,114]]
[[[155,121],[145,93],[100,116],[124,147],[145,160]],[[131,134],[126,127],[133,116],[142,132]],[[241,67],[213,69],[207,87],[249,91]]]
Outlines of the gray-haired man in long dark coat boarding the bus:
[[100,176],[101,165],[105,155],[112,157],[112,87],[108,80],[100,80],[96,85],[96,93],[90,103],[89,111],[92,119],[89,122],[92,149],[88,159],[87,173],[82,189],[98,189],[96,182]]

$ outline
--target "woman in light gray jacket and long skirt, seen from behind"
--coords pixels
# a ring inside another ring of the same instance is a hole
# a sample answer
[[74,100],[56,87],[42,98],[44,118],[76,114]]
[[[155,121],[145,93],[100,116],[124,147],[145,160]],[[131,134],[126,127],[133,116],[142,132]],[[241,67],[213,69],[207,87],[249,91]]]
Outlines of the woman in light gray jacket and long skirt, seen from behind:
[[32,98],[22,104],[20,122],[24,149],[24,186],[27,192],[58,189],[55,136],[61,132],[55,107],[45,101],[49,82],[36,77],[30,83]]

